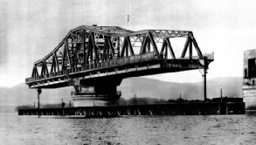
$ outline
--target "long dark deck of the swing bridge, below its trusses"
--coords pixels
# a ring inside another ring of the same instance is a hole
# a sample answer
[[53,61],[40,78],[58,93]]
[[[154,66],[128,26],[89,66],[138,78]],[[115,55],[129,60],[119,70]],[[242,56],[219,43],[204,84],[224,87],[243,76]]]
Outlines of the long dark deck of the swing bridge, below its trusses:
[[[208,59],[210,63],[213,59]],[[179,72],[203,67],[200,59],[156,59],[154,52],[112,59],[106,62],[73,67],[66,71],[52,72],[25,79],[31,88],[56,88],[69,86],[71,79],[95,79],[100,77],[135,77],[162,72]]]

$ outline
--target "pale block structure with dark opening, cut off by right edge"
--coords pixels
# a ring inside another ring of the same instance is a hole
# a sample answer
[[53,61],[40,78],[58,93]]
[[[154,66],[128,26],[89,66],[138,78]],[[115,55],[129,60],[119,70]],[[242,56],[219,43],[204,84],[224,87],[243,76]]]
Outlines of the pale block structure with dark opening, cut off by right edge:
[[256,49],[244,52],[243,98],[246,107],[256,106]]

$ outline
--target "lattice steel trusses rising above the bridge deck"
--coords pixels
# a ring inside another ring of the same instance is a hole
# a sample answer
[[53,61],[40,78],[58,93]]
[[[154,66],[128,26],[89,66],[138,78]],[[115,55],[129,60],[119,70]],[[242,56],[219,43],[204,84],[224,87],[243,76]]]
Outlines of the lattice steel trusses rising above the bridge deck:
[[[66,72],[73,68],[86,68],[86,66],[95,66],[109,60],[148,52],[153,52],[155,59],[167,59],[168,53],[172,59],[176,59],[170,38],[186,38],[181,59],[185,57],[188,49],[189,58],[187,59],[195,59],[195,56],[192,56],[193,46],[197,52],[196,58],[203,58],[192,31],[128,31],[118,26],[82,25],[70,31],[44,59],[34,63],[31,78]],[[158,50],[156,43],[162,44],[161,49]],[[134,51],[135,47],[140,48],[137,54]]]

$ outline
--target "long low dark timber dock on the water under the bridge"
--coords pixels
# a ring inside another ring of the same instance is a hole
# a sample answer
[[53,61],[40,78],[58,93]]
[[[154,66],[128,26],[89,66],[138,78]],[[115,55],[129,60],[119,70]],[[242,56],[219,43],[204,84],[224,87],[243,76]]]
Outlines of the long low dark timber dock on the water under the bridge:
[[113,107],[56,107],[19,109],[18,115],[114,117],[122,115],[220,115],[246,114],[244,102],[199,102]]

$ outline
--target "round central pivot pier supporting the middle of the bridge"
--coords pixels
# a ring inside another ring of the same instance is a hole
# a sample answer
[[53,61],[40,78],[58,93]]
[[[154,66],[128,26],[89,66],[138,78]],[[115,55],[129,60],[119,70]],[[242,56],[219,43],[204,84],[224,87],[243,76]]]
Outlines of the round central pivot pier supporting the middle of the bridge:
[[96,80],[73,80],[72,92],[74,107],[116,106],[121,97],[117,91],[121,79],[101,78]]

